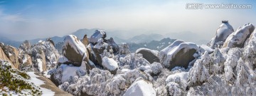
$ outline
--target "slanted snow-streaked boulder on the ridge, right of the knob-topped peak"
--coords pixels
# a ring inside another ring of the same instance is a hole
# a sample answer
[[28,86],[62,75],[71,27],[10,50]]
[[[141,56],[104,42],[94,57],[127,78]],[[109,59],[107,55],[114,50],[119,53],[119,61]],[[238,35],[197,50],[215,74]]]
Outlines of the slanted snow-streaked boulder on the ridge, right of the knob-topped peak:
[[230,36],[226,39],[223,48],[243,48],[245,45],[245,41],[250,37],[250,34],[254,31],[255,26],[252,23],[245,24],[244,26],[240,26],[237,31],[231,33]]

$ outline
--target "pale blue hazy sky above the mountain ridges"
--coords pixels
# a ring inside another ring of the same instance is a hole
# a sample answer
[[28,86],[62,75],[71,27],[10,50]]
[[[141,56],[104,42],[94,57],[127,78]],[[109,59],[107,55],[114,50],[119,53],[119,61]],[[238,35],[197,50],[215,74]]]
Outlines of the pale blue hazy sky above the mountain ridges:
[[[251,4],[252,9],[186,9],[188,3]],[[0,0],[0,35],[15,41],[65,36],[80,28],[154,33],[191,31],[210,40],[222,20],[256,23],[255,0]]]

